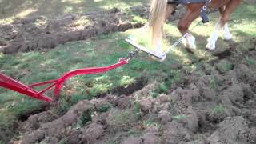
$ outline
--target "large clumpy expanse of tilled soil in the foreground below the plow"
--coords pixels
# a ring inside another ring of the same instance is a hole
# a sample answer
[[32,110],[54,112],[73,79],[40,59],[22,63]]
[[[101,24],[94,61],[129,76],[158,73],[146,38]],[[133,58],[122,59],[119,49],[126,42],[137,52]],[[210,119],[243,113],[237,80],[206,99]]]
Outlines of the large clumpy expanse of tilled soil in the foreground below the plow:
[[[182,82],[157,98],[149,97],[157,86],[153,82],[133,94],[78,102],[59,118],[48,111],[30,116],[20,142],[253,144],[256,39],[250,42],[254,46],[246,52],[235,45],[226,57],[184,73]],[[221,68],[223,62],[230,62],[230,70]],[[102,110],[106,106],[110,109]],[[75,127],[85,114],[90,121]]]

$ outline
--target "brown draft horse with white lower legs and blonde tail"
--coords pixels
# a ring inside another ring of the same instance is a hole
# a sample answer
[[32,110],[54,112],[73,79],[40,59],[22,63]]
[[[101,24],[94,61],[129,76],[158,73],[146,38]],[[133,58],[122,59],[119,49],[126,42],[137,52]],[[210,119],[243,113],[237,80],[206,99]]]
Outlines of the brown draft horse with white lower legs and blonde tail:
[[179,20],[178,30],[183,36],[186,34],[183,44],[187,48],[196,49],[195,38],[190,33],[189,27],[191,23],[202,13],[202,8],[203,6],[206,6],[206,2],[208,2],[208,8],[218,10],[221,14],[221,17],[215,26],[214,33],[208,39],[206,49],[215,49],[215,43],[221,30],[224,30],[223,38],[225,40],[230,40],[232,38],[227,21],[230,18],[230,14],[240,4],[241,0],[152,0],[150,6],[149,28],[151,44],[157,47],[157,51],[162,51],[159,50],[158,46],[158,42],[160,42],[159,40],[162,38],[162,26],[166,22],[166,18],[174,12],[178,2],[186,2],[186,14],[184,14]]

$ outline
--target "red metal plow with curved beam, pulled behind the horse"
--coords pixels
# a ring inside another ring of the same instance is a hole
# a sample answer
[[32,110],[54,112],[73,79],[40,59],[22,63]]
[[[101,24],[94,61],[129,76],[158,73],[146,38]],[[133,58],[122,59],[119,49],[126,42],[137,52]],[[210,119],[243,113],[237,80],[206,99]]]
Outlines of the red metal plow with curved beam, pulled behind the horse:
[[[78,69],[78,70],[71,70],[65,74],[63,74],[60,78],[58,79],[53,79],[49,80],[46,82],[39,82],[39,83],[34,83],[31,85],[25,85],[22,82],[18,82],[14,80],[13,78],[10,78],[6,76],[5,74],[0,73],[0,86],[9,89],[9,90],[14,90],[20,94],[25,94],[26,96],[29,96],[30,98],[36,98],[38,100],[42,100],[45,102],[53,102],[54,98],[57,98],[60,90],[62,89],[62,85],[66,80],[68,80],[71,77],[77,76],[77,75],[83,75],[83,74],[97,74],[97,73],[103,73],[108,70],[113,70],[116,69],[120,66],[123,66],[127,64],[129,61],[120,58],[117,63],[111,66],[104,66],[104,67],[94,67],[94,68],[85,68],[85,69]],[[37,91],[34,90],[34,87],[36,86],[46,86],[46,88]],[[54,98],[48,97],[45,93],[47,90],[50,90],[54,88]]]

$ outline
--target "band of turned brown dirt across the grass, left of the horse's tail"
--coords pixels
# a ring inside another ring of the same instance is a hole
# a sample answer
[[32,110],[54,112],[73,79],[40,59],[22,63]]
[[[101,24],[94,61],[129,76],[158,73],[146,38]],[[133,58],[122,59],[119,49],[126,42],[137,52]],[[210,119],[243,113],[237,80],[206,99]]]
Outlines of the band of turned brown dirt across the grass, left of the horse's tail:
[[132,22],[131,16],[117,8],[82,15],[66,14],[52,20],[43,17],[18,19],[10,25],[0,26],[0,50],[13,54],[18,51],[51,49],[65,42],[142,25],[140,22]]

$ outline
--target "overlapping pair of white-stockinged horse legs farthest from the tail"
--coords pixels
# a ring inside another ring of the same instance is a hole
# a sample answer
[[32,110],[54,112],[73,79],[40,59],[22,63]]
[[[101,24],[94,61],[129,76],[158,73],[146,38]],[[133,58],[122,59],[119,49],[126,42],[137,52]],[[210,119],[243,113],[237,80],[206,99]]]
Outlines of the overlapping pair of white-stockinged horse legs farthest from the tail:
[[230,34],[227,21],[230,19],[230,14],[235,10],[235,8],[240,4],[241,0],[231,0],[226,6],[219,8],[221,13],[221,18],[219,18],[218,23],[215,26],[214,33],[208,39],[206,49],[214,50],[215,44],[218,39],[218,33],[220,30],[224,30],[224,39],[230,40],[232,35]]

